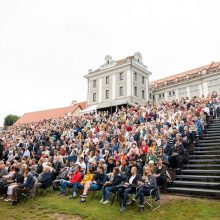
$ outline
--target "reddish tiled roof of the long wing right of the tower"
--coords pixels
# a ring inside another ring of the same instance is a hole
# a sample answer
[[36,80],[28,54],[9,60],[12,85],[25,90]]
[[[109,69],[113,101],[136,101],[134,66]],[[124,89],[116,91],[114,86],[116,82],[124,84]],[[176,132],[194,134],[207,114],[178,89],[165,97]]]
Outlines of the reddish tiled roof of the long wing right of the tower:
[[165,82],[169,82],[169,81],[172,81],[172,80],[176,80],[178,78],[183,78],[183,77],[186,77],[186,76],[191,76],[193,74],[196,74],[196,73],[201,73],[202,71],[206,71],[206,73],[209,73],[211,72],[210,70],[212,69],[215,69],[215,68],[219,68],[220,66],[220,61],[219,62],[212,62],[208,65],[205,65],[205,66],[202,66],[202,67],[198,67],[198,68],[195,68],[195,69],[192,69],[192,70],[188,70],[188,71],[185,71],[185,72],[182,72],[182,73],[178,73],[178,74],[175,74],[175,75],[171,75],[171,76],[168,76],[168,77],[164,77],[164,78],[161,78],[161,79],[158,79],[158,80],[155,80],[155,81],[152,81],[150,82],[150,86],[155,86],[156,84],[162,84],[162,83],[165,83]]

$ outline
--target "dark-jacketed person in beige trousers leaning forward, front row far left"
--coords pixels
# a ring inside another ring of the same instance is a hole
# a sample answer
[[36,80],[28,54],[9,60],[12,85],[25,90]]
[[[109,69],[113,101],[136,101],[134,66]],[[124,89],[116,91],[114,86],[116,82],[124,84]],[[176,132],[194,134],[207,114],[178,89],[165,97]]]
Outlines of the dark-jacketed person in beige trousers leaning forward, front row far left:
[[17,202],[18,195],[22,193],[28,193],[32,190],[35,179],[34,176],[32,175],[31,167],[27,168],[28,174],[27,177],[25,178],[25,181],[22,184],[19,184],[17,187],[13,188],[12,191],[12,201],[11,204],[14,205]]

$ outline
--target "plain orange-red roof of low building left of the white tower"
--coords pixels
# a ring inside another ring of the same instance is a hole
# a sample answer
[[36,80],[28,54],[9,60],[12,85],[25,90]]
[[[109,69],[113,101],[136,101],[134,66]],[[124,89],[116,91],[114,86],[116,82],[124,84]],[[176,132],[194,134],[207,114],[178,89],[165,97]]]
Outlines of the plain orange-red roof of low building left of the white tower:
[[74,113],[78,108],[81,110],[87,107],[87,102],[76,103],[71,106],[63,108],[48,109],[43,111],[28,112],[19,118],[15,125],[28,124],[32,122],[42,121],[44,119],[60,118],[66,116],[68,113]]

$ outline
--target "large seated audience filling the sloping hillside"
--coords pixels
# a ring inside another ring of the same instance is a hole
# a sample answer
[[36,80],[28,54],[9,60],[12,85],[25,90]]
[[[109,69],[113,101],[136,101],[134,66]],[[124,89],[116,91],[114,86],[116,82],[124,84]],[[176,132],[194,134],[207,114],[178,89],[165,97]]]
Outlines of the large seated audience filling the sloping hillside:
[[143,209],[152,190],[155,200],[166,192],[169,170],[181,172],[216,116],[220,97],[208,96],[7,127],[0,132],[1,199],[16,204],[53,187],[81,202],[100,191],[102,204],[117,193],[121,212],[130,203]]

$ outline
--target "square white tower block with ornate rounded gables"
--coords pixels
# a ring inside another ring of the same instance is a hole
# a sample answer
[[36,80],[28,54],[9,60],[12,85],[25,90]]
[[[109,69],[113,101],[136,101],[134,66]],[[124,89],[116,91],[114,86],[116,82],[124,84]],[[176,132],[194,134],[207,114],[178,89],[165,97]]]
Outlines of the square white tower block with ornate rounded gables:
[[97,105],[97,109],[102,109],[125,104],[145,105],[149,100],[150,75],[139,52],[118,61],[106,56],[98,70],[89,70],[85,76],[88,106]]

